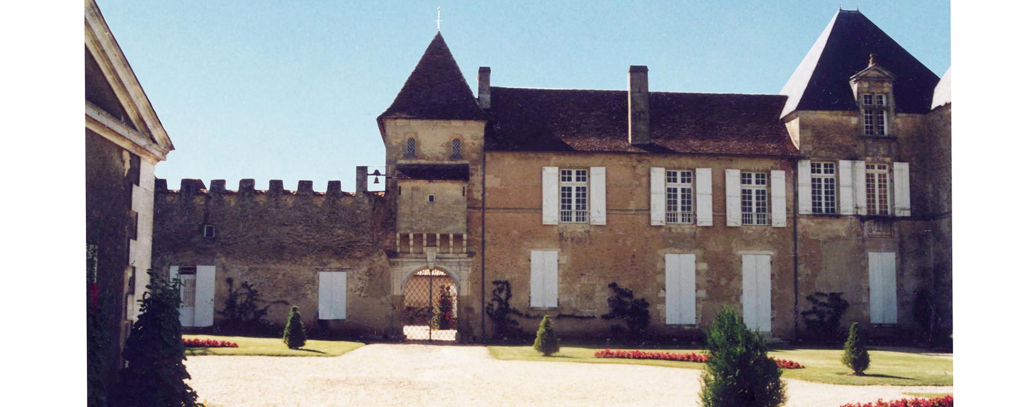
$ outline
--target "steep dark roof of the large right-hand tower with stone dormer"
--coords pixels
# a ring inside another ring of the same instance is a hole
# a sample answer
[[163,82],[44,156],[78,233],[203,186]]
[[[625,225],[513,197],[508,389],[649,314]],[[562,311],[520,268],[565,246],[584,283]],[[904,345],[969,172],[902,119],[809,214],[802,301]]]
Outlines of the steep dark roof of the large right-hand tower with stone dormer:
[[898,112],[929,111],[937,74],[862,13],[839,10],[781,90],[788,96],[782,116],[795,110],[857,109],[848,78],[867,66],[870,53],[898,78]]

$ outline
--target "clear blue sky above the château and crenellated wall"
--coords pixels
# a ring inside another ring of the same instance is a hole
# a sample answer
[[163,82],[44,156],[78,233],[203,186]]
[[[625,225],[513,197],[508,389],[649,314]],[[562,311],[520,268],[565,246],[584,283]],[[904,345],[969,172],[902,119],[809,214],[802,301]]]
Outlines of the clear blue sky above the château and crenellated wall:
[[[339,2],[98,0],[176,151],[156,167],[225,178],[236,189],[339,179],[384,165],[375,118],[435,35],[476,91],[626,89],[647,65],[652,91],[777,94],[838,10],[837,1]],[[856,2],[845,3],[854,9]],[[951,64],[948,1],[858,7],[938,75]]]

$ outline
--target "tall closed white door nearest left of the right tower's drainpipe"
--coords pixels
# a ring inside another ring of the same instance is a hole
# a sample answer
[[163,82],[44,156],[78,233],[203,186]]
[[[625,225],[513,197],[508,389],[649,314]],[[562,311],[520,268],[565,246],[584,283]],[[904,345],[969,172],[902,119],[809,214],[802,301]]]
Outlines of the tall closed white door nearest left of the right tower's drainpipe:
[[771,255],[742,255],[742,319],[752,331],[771,332]]

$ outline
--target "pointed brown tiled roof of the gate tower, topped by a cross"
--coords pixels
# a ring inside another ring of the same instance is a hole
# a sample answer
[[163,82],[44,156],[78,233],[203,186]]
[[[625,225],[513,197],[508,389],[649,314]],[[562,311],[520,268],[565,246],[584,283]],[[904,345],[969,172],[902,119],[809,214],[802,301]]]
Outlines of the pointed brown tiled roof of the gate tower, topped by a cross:
[[442,34],[435,35],[403,89],[379,118],[484,119]]

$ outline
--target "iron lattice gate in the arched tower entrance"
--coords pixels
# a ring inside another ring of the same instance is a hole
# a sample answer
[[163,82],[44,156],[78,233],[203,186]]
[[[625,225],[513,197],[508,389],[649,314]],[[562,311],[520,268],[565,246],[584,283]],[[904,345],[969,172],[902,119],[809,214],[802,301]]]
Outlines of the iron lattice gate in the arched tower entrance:
[[403,288],[403,336],[408,341],[456,340],[456,282],[441,270],[421,270]]

